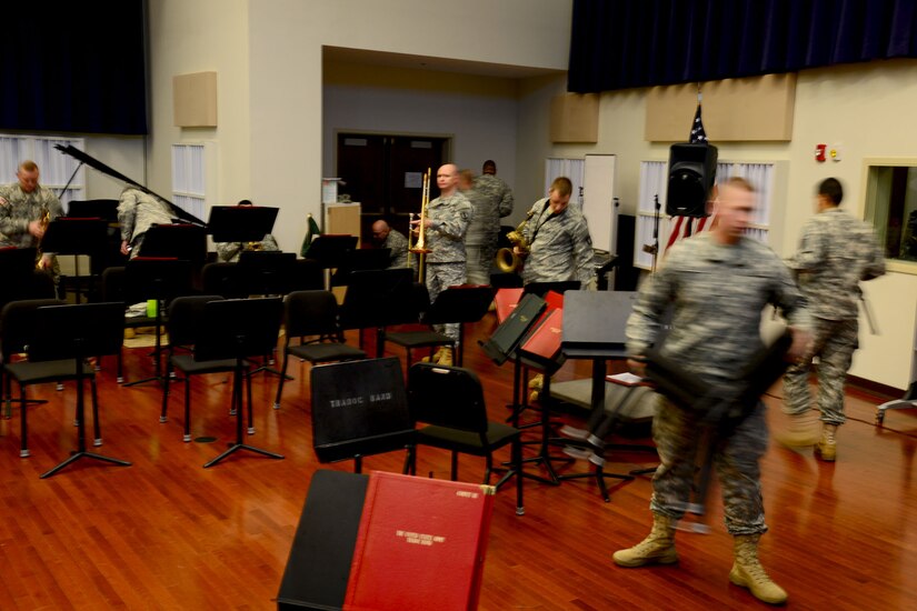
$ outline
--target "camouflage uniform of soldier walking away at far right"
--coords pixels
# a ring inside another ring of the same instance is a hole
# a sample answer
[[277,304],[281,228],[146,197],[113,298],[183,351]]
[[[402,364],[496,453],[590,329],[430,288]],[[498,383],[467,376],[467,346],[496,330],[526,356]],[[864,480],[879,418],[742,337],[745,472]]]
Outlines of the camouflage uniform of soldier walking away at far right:
[[[885,259],[873,228],[839,208],[806,221],[798,252],[788,261],[815,319],[813,357],[818,357],[818,409],[827,424],[843,424],[844,381],[858,348],[859,282],[885,273]],[[784,378],[785,411],[809,409],[811,359]]]

